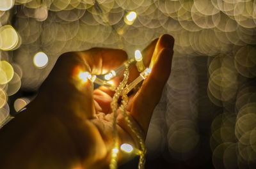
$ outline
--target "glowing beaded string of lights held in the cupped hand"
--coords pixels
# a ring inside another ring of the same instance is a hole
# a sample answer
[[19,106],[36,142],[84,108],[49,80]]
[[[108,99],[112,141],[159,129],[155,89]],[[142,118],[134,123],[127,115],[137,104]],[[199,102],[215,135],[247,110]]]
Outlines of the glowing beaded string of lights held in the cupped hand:
[[[145,80],[148,77],[148,75],[151,72],[151,68],[145,68],[140,50],[135,51],[134,57],[135,57],[135,60],[130,59],[130,60],[124,62],[124,64],[122,64],[122,66],[116,68],[116,70],[111,70],[108,73],[104,74],[103,76],[99,75],[99,77],[104,77],[105,80],[102,80],[101,78],[97,77],[97,75],[92,75],[88,72],[81,72],[78,75],[79,78],[83,82],[87,82],[87,80],[90,80],[91,82],[94,82],[95,84],[104,85],[104,86],[108,87],[109,89],[111,89],[112,91],[115,91],[115,94],[113,96],[113,101],[111,102],[111,109],[113,112],[113,147],[112,147],[112,151],[111,151],[111,161],[109,164],[110,169],[117,168],[119,148],[124,152],[127,152],[127,153],[132,152],[132,153],[140,156],[140,161],[139,161],[139,165],[138,165],[139,169],[143,169],[144,165],[145,165],[146,149],[145,149],[145,141],[143,140],[143,136],[142,136],[142,131],[134,126],[134,124],[131,121],[126,110],[127,110],[127,105],[128,105],[128,101],[129,101],[127,94],[132,89],[134,89],[134,87],[136,87],[138,84],[140,84],[141,81]],[[140,73],[139,77],[137,77],[135,80],[133,80],[130,84],[127,84],[127,81],[129,78],[129,67],[132,64],[134,64],[134,61],[136,61],[137,70],[141,71],[141,73]],[[143,70],[142,70],[142,68],[143,68]],[[124,79],[122,80],[122,82],[120,82],[118,87],[115,88],[112,84],[108,83],[107,80],[111,80],[112,78],[114,78],[117,75],[119,75],[120,73],[122,73],[122,71],[124,71]],[[118,99],[120,98],[120,96],[122,96],[122,101],[121,101],[120,107],[118,107]],[[132,147],[132,145],[129,145],[127,143],[122,144],[120,147],[118,146],[118,142],[117,142],[118,132],[117,132],[117,126],[116,126],[117,125],[116,118],[117,118],[118,108],[120,109],[120,112],[124,116],[124,119],[127,122],[127,125],[129,126],[129,128],[131,129],[132,133],[134,133],[134,135],[136,135],[136,138],[138,139],[138,142],[140,144],[140,149],[135,149]]]

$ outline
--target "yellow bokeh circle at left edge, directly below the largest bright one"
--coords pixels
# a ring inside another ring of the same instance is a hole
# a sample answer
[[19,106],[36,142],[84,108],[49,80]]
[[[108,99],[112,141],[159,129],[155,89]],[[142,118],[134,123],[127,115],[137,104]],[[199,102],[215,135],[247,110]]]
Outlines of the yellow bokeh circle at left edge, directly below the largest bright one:
[[13,78],[12,65],[6,61],[0,61],[0,84],[6,84]]

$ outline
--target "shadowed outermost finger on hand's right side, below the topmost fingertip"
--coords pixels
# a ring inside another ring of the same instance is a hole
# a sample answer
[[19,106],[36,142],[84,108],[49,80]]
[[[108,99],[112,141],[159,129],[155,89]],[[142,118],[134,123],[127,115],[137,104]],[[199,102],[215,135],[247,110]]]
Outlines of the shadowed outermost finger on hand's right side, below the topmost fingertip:
[[131,116],[145,133],[147,133],[152,112],[161,98],[164,84],[170,75],[172,55],[172,49],[162,48],[157,56],[158,59],[154,62],[152,72],[132,100]]

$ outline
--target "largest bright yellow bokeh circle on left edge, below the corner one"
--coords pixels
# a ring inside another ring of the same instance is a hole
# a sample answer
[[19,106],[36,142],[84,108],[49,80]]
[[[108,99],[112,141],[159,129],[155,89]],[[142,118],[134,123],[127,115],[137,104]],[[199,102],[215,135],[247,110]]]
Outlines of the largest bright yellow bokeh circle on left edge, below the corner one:
[[2,26],[0,28],[0,49],[12,50],[17,46],[19,42],[19,36],[15,29],[10,26]]

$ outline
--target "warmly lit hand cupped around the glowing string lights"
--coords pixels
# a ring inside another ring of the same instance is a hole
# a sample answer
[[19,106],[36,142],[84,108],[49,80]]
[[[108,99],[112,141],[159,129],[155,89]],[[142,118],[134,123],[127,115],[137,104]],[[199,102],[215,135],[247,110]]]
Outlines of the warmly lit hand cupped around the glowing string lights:
[[[143,50],[143,62],[152,72],[141,88],[129,96],[127,114],[146,137],[148,124],[171,72],[172,36],[164,34]],[[78,74],[101,74],[127,59],[123,50],[92,48],[60,56],[38,96],[26,110],[0,130],[0,166],[6,169],[108,168],[112,139],[110,103],[114,92],[106,87],[93,90]],[[150,64],[151,61],[151,64]],[[122,73],[121,73],[122,74]],[[131,67],[129,82],[138,77]],[[113,79],[114,85],[122,75]],[[138,147],[138,140],[118,112],[118,142]],[[118,160],[127,157],[119,153]]]

